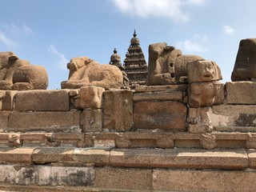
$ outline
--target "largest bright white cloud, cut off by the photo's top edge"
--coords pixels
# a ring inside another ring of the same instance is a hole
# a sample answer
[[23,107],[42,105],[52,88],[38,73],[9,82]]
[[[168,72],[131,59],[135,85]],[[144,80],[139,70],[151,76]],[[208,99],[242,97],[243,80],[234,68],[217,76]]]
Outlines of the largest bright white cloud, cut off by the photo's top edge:
[[189,17],[183,6],[198,6],[205,0],[112,0],[114,6],[123,14],[140,18],[171,18],[177,22],[186,22]]

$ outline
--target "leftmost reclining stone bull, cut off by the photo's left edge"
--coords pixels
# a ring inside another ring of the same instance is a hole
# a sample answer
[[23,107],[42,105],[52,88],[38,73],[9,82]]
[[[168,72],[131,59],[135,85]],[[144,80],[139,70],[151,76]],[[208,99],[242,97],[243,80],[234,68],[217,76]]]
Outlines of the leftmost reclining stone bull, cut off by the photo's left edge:
[[33,66],[12,52],[0,52],[1,90],[46,90],[48,74],[43,66]]

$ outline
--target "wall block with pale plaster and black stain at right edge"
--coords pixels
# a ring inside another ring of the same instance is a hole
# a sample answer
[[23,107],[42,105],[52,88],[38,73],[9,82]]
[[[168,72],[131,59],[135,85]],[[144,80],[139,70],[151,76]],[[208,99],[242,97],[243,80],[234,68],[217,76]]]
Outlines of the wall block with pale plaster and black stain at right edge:
[[215,130],[256,130],[256,109],[253,105],[212,106],[209,114]]

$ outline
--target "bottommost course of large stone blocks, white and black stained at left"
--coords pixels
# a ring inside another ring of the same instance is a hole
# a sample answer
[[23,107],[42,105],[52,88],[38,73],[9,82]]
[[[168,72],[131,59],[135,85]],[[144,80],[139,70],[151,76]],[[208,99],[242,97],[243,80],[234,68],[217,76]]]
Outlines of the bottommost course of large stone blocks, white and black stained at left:
[[255,191],[255,170],[0,166],[0,191]]

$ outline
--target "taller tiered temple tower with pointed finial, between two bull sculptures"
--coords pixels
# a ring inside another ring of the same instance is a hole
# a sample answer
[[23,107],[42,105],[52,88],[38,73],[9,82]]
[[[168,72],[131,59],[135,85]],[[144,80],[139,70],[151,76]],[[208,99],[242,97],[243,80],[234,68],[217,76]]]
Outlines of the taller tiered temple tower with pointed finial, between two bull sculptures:
[[130,86],[145,85],[148,67],[146,60],[140,46],[139,39],[136,37],[134,30],[134,37],[130,40],[130,46],[126,53],[124,60],[124,67],[128,78],[130,79]]

